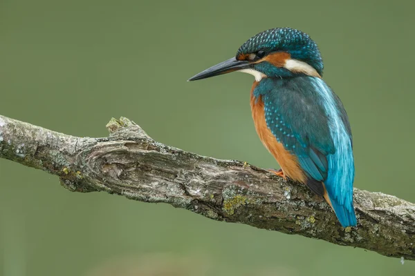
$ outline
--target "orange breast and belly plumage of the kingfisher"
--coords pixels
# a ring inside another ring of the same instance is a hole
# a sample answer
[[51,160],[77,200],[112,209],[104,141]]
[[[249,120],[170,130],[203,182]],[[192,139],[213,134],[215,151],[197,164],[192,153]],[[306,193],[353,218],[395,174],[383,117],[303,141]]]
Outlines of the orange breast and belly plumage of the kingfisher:
[[264,102],[259,98],[255,98],[253,92],[258,82],[255,81],[250,95],[250,106],[252,111],[252,119],[254,119],[255,129],[257,130],[259,139],[268,151],[275,157],[279,166],[281,166],[284,175],[301,183],[306,183],[306,175],[299,166],[297,157],[291,154],[284,146],[277,142],[277,139],[266,125],[264,114]]

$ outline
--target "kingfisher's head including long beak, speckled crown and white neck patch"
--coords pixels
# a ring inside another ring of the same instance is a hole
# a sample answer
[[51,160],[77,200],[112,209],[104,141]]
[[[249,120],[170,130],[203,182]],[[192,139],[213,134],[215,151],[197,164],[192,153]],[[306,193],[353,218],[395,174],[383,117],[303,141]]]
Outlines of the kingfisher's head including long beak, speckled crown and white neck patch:
[[189,81],[234,71],[254,75],[256,81],[264,77],[321,77],[323,61],[317,44],[308,34],[292,28],[275,28],[251,37],[235,57],[200,72]]

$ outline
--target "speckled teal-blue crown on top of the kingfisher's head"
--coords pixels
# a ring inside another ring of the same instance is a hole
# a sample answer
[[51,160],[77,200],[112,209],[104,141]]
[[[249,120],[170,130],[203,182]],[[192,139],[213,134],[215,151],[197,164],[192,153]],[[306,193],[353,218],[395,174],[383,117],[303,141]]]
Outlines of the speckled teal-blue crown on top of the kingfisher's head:
[[237,56],[259,50],[267,53],[276,51],[288,52],[292,59],[308,63],[322,75],[324,65],[317,44],[308,34],[300,30],[274,28],[260,32],[243,43],[237,52]]

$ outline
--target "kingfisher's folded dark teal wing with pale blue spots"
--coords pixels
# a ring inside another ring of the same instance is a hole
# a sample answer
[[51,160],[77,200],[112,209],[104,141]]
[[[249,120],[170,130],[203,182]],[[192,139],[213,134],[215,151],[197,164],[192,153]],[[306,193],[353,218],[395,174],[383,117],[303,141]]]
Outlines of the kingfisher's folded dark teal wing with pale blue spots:
[[308,177],[324,181],[329,170],[327,155],[335,152],[324,106],[318,97],[297,86],[273,83],[272,87],[262,95],[268,128],[297,156]]

